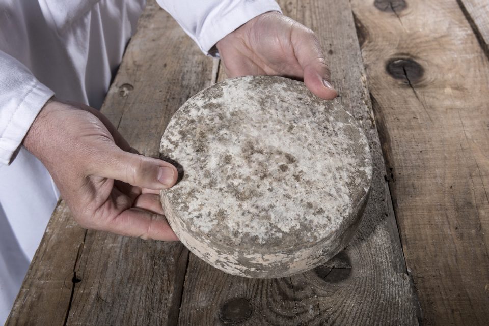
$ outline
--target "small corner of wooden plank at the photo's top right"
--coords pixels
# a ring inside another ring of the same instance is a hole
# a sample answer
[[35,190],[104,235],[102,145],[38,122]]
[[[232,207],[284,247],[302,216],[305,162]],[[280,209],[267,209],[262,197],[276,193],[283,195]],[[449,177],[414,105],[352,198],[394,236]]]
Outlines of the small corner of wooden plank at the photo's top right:
[[457,0],[471,25],[485,55],[489,58],[489,2],[486,0]]

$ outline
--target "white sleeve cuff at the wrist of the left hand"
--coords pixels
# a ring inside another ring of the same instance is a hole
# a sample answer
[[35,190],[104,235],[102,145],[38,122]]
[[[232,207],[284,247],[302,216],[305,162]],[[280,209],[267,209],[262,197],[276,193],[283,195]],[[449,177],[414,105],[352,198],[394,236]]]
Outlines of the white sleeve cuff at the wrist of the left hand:
[[0,163],[10,164],[37,114],[54,93],[0,51]]

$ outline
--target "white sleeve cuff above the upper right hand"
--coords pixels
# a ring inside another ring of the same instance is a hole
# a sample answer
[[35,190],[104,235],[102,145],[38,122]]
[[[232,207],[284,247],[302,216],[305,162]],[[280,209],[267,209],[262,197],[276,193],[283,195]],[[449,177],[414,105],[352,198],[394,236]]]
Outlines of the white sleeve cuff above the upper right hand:
[[156,0],[207,55],[223,37],[252,18],[279,11],[274,0]]

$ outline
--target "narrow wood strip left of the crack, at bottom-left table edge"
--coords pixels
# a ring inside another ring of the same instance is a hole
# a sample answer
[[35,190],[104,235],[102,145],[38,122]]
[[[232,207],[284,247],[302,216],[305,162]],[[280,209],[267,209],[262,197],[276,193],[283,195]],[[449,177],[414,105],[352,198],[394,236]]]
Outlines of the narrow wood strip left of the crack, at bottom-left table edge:
[[[58,204],[29,266],[6,326],[62,325],[69,310],[73,271],[86,230]],[[60,250],[61,249],[61,250]]]

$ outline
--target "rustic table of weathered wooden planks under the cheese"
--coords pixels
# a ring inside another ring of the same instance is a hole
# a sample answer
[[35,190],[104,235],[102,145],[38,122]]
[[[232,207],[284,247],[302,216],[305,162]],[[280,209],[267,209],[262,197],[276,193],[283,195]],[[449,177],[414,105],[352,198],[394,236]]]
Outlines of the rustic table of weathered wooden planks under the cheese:
[[[489,324],[489,4],[280,4],[317,32],[370,142],[372,194],[348,247],[301,275],[247,279],[180,243],[82,229],[60,202],[7,325]],[[223,78],[150,1],[102,111],[158,157],[175,110]]]

